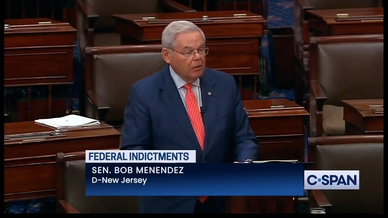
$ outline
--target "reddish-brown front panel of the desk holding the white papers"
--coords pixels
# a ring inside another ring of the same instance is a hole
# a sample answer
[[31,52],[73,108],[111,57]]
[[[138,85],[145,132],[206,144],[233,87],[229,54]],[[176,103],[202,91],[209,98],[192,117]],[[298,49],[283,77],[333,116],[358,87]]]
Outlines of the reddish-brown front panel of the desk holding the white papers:
[[56,194],[56,154],[117,149],[120,135],[53,140],[4,147],[4,201],[51,197]]

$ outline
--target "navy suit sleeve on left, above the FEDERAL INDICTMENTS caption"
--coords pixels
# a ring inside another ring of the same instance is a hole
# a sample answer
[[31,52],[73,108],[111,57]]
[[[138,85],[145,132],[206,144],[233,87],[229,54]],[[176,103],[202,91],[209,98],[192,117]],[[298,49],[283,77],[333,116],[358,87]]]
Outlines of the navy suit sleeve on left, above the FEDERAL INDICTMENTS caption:
[[132,86],[128,104],[124,110],[124,123],[121,129],[123,139],[120,150],[149,150],[151,148],[151,118],[144,97],[138,88]]

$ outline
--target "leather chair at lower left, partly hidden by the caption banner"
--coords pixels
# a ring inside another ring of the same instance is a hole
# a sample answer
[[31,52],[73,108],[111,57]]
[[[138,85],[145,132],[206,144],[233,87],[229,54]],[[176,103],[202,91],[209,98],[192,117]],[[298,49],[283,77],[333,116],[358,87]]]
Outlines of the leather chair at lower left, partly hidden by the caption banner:
[[137,196],[85,196],[85,152],[58,153],[57,213],[138,213]]

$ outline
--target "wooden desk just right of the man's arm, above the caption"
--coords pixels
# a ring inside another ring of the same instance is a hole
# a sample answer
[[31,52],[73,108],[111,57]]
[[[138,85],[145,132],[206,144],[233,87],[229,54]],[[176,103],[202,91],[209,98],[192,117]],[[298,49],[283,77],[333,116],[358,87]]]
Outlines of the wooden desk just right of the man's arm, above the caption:
[[242,101],[259,140],[259,160],[304,161],[304,119],[308,112],[287,99]]

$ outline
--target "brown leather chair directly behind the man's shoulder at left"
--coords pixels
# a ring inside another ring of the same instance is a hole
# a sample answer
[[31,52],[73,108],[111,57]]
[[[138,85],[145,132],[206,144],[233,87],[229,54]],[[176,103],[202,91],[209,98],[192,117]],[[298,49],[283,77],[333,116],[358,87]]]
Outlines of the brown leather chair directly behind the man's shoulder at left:
[[161,45],[86,48],[86,116],[120,131],[130,87],[166,65],[161,50]]

